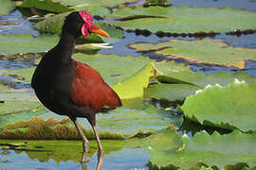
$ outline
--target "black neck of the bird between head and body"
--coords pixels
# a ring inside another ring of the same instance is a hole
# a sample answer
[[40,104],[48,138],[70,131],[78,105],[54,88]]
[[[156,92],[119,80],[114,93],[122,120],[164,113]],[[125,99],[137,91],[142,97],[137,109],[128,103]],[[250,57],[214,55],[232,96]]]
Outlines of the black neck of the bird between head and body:
[[63,32],[60,42],[57,44],[57,50],[59,51],[60,60],[68,62],[71,60],[71,55],[75,46],[75,37],[71,34]]

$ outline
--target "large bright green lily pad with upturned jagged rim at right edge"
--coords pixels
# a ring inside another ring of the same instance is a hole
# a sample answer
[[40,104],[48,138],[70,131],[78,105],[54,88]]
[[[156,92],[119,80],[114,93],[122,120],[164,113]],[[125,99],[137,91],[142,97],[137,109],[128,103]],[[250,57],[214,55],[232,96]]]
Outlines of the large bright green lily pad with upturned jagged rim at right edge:
[[181,107],[187,118],[201,125],[256,130],[256,81],[236,80],[226,87],[215,85],[188,96]]

